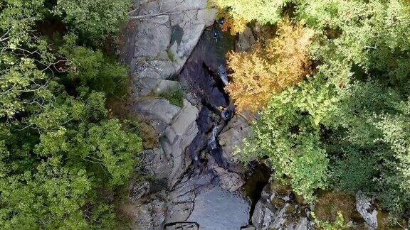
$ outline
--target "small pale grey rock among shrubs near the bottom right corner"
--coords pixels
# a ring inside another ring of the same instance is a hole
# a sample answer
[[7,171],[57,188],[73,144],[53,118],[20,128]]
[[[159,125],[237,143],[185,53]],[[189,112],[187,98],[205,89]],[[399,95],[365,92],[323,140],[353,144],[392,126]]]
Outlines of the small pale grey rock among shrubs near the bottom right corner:
[[377,229],[377,210],[372,208],[373,199],[364,196],[361,192],[356,194],[356,209],[362,215],[370,229]]

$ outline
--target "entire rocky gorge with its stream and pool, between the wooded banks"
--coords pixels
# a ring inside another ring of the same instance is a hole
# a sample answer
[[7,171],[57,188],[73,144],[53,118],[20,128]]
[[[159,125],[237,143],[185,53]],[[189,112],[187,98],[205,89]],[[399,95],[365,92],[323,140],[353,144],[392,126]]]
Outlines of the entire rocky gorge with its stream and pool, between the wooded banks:
[[312,229],[312,207],[275,185],[265,165],[233,154],[254,117],[236,114],[224,92],[225,57],[255,43],[251,28],[223,33],[206,0],[137,0],[122,37],[132,114],[157,137],[137,168],[148,179],[132,183],[122,205],[133,228]]

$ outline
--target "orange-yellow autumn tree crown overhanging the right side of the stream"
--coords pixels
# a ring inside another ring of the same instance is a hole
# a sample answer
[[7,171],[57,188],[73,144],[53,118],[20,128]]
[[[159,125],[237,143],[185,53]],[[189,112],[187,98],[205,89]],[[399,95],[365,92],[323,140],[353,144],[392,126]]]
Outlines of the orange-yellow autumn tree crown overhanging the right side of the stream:
[[275,38],[256,43],[249,53],[229,53],[233,70],[226,90],[239,111],[258,111],[273,94],[310,74],[308,45],[313,31],[302,24],[279,23]]

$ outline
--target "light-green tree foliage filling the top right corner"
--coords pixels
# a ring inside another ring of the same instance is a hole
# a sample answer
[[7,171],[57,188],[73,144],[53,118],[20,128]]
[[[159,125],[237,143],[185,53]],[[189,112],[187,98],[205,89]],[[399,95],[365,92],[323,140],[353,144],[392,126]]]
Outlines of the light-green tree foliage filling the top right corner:
[[[299,17],[322,31],[312,55],[337,85],[352,80],[352,69],[397,86],[409,75],[410,6],[406,1],[307,1]],[[403,82],[404,81],[404,82]]]

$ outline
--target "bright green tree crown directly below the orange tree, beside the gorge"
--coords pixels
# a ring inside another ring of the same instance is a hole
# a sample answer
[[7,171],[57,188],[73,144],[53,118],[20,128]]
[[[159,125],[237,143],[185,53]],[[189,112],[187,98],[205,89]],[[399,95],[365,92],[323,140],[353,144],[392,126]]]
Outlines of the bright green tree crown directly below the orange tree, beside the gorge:
[[296,193],[312,201],[315,190],[327,186],[329,160],[321,145],[320,125],[305,108],[305,97],[315,95],[310,94],[295,94],[290,88],[275,95],[253,128],[253,138],[245,140],[244,154],[268,156],[275,177],[284,178]]

